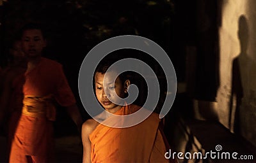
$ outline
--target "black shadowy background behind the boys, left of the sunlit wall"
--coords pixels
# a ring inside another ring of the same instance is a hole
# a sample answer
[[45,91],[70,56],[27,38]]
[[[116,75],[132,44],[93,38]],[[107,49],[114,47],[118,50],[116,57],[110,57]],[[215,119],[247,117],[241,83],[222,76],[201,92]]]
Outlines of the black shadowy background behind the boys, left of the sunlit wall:
[[[215,101],[218,88],[217,1],[8,0],[0,7],[1,66],[7,66],[8,46],[22,25],[27,22],[44,24],[47,38],[44,57],[63,64],[84,120],[90,117],[83,110],[78,94],[81,63],[93,46],[125,34],[143,36],[156,42],[172,60],[177,81],[189,81],[189,88],[193,88],[189,90],[189,96]],[[205,14],[211,22],[211,27],[206,30]],[[188,60],[188,47],[191,46],[196,47],[198,54]],[[147,56],[143,59],[151,60]],[[191,65],[194,69],[188,69]],[[161,67],[154,69],[159,71]],[[189,75],[192,78],[188,78]],[[158,76],[163,77],[162,74]],[[65,114],[60,113],[59,116],[60,120],[70,120]]]

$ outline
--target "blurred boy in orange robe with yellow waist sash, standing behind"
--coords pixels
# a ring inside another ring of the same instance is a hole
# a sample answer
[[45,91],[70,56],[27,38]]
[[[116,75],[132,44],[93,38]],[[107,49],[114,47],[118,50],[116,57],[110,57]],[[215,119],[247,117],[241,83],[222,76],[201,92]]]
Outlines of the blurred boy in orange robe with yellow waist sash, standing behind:
[[24,73],[13,81],[17,87],[17,98],[21,97],[21,108],[12,113],[19,118],[12,131],[9,162],[54,162],[55,104],[67,108],[79,131],[82,118],[63,67],[42,57],[46,46],[42,27],[27,24],[20,33],[22,51],[28,64]]

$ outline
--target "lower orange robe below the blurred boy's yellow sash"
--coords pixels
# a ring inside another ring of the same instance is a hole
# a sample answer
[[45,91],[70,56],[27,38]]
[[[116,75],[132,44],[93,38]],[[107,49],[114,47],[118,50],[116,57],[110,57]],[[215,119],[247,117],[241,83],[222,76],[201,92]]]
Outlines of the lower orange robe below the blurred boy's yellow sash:
[[50,162],[54,139],[52,121],[46,118],[20,115],[10,151],[10,162]]

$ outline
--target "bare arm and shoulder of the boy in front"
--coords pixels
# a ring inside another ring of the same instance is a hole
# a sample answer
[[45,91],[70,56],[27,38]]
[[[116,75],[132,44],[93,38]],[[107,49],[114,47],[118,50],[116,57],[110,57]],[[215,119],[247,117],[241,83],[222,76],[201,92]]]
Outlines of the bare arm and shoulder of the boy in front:
[[97,122],[93,119],[86,120],[82,126],[82,142],[83,142],[83,163],[91,162],[91,141],[90,134],[95,129]]

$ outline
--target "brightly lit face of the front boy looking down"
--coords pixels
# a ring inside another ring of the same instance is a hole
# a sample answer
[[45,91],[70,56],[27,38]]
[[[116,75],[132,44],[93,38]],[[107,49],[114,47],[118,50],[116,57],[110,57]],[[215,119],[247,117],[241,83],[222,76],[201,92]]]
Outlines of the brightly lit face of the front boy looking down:
[[[115,113],[115,111],[122,107],[115,103],[120,103],[118,97],[124,98],[125,92],[124,84],[120,78],[116,78],[115,83],[112,82],[113,79],[115,79],[114,72],[108,72],[106,74],[97,72],[95,74],[95,93],[97,99],[99,103],[102,104],[102,106],[105,108],[105,110],[111,113]],[[115,101],[115,103],[112,103],[109,99],[111,99],[111,101]]]

